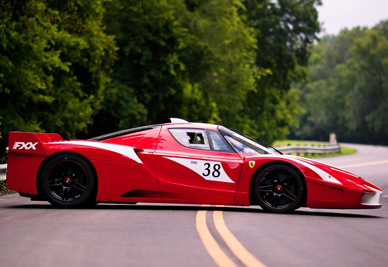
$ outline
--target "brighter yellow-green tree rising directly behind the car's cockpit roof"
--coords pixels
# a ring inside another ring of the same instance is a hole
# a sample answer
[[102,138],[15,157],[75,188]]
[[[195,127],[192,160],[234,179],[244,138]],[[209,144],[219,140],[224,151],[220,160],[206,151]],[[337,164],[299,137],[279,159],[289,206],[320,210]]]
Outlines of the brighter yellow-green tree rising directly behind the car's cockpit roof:
[[180,52],[187,70],[185,80],[201,90],[205,106],[216,107],[219,117],[209,116],[210,110],[199,119],[238,127],[247,93],[255,90],[260,74],[254,61],[253,29],[238,14],[243,5],[238,0],[186,4],[189,19],[184,25],[189,34],[187,46]]

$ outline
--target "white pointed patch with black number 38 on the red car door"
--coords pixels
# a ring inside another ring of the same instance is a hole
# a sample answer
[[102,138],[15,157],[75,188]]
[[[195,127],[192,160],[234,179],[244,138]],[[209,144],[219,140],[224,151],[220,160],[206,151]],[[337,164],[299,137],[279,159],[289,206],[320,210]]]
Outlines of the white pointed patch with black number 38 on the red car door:
[[165,158],[195,171],[205,180],[234,184],[233,180],[226,174],[221,162],[174,157]]

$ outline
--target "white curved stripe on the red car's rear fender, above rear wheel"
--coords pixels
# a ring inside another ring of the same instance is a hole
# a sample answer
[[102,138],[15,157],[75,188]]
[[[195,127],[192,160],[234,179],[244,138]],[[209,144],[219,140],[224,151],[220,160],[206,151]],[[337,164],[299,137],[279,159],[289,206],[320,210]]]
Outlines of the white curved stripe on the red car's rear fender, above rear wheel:
[[137,163],[143,163],[140,158],[137,156],[132,147],[109,144],[109,143],[101,143],[95,141],[64,141],[64,142],[55,142],[55,144],[71,144],[71,145],[81,145],[86,147],[98,148],[113,151],[119,153],[123,156],[126,156]]

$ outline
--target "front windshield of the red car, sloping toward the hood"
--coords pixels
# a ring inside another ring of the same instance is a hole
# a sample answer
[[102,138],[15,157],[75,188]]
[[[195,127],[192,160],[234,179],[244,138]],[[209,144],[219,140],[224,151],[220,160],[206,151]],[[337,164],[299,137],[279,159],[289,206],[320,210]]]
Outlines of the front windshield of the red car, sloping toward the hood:
[[227,134],[226,140],[239,153],[244,154],[278,154],[241,134]]

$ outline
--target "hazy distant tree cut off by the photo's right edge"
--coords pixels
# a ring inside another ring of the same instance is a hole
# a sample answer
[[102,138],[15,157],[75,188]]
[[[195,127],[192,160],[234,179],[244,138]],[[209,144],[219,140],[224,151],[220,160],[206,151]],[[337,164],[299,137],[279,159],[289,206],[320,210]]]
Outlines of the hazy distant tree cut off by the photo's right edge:
[[388,39],[381,30],[388,29],[371,29],[356,38],[347,62],[352,72],[346,78],[353,90],[347,95],[345,118],[356,142],[388,144]]

